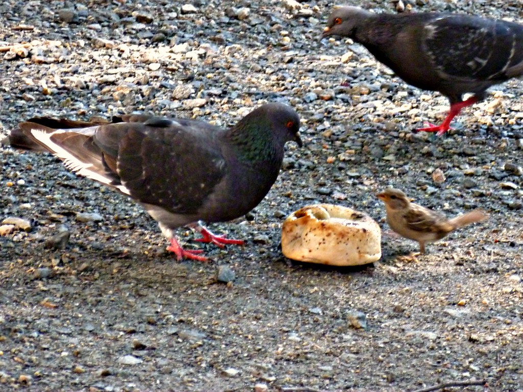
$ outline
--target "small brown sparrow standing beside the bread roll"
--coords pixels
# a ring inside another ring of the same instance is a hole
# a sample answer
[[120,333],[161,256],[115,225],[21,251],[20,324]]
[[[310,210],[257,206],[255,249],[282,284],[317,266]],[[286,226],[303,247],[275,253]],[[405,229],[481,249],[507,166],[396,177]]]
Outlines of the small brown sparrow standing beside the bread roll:
[[377,193],[376,197],[385,203],[387,223],[402,237],[419,243],[419,251],[425,253],[425,243],[433,243],[453,230],[465,225],[486,220],[482,210],[448,219],[419,204],[411,203],[399,189],[388,188]]

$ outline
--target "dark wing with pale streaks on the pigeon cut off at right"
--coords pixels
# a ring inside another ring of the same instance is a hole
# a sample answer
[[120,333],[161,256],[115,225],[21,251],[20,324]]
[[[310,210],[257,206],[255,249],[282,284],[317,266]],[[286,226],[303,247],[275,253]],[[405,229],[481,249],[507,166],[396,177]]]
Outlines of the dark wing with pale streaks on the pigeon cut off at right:
[[444,79],[505,80],[523,62],[523,26],[503,20],[440,14],[426,22],[423,37]]

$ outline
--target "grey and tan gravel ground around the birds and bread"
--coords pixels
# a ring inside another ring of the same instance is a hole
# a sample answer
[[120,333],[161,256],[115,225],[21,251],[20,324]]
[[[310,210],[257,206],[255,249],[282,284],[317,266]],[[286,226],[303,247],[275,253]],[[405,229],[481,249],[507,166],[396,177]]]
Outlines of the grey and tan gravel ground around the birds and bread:
[[[523,22],[520,0],[413,3]],[[0,237],[0,389],[412,391],[484,379],[522,391],[523,84],[492,88],[435,139],[412,130],[445,116],[444,97],[357,44],[320,42],[333,3],[190,5],[0,4],[0,47],[28,43],[0,52],[4,135],[34,116],[131,112],[227,126],[281,101],[305,141],[289,144],[252,214],[212,226],[247,246],[206,247],[209,263],[176,262],[139,206],[58,159],[0,148],[0,217],[27,225]],[[491,216],[412,258],[417,244],[389,233],[374,197],[390,185],[449,216]],[[322,268],[283,257],[283,219],[315,202],[376,218],[382,259]],[[235,280],[217,282],[220,268]]]

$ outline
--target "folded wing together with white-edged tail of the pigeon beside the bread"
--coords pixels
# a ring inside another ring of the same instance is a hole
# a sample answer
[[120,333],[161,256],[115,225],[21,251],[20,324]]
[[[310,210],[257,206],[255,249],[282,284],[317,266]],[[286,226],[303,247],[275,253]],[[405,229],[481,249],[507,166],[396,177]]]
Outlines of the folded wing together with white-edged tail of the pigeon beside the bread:
[[24,122],[18,130],[77,174],[172,213],[196,213],[225,176],[222,131],[200,121],[147,117],[81,129]]

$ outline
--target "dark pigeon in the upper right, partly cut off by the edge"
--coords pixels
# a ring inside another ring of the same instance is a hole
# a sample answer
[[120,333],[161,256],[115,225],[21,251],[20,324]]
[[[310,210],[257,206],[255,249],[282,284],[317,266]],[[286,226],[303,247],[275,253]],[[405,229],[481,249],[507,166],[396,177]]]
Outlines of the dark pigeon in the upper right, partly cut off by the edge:
[[[504,20],[342,7],[328,17],[322,39],[334,35],[361,43],[408,84],[449,99],[445,120],[417,131],[444,134],[461,109],[485,98],[488,87],[523,74],[523,26]],[[463,100],[465,93],[473,95]]]

